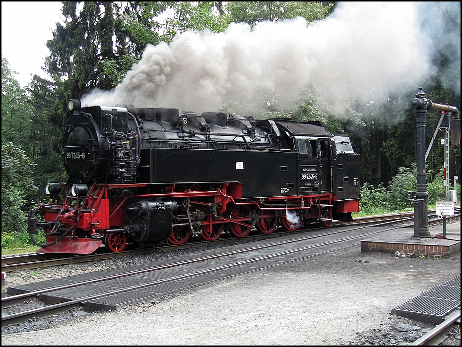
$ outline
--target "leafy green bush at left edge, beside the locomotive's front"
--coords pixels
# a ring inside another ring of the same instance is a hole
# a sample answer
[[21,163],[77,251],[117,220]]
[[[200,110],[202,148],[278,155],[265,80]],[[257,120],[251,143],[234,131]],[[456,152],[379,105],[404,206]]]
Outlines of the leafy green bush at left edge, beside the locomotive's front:
[[32,180],[34,164],[11,142],[1,146],[1,246],[26,231],[25,195],[37,187]]

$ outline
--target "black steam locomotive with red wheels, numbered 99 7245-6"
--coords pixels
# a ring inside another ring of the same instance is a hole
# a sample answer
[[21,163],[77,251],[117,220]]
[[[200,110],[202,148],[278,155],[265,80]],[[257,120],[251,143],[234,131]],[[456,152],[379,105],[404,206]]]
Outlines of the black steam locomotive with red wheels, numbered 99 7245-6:
[[38,252],[329,227],[359,210],[359,155],[320,122],[79,100],[67,109],[67,182],[48,183],[49,202],[29,211]]

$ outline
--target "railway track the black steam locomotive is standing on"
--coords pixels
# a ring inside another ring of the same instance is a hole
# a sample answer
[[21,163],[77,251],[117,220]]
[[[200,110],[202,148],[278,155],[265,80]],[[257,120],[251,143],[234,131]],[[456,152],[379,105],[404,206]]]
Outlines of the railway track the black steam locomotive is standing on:
[[[453,217],[460,216],[460,207],[455,210],[455,215]],[[352,223],[349,222],[334,222],[332,223],[332,227],[339,227],[345,225],[375,225],[377,223],[382,223],[387,221],[388,223],[404,223],[407,221],[412,221],[413,212],[400,212],[400,213],[393,213],[393,214],[386,214],[386,215],[377,215],[377,216],[367,216],[367,217],[358,217],[354,218]],[[435,210],[429,210],[429,224],[440,222],[435,215]],[[447,218],[449,219],[449,218]],[[332,228],[331,227],[331,228]],[[280,232],[273,232],[269,235],[264,234],[251,234],[249,236],[237,239],[236,237],[226,237],[226,238],[219,238],[215,241],[200,241],[200,242],[187,242],[182,245],[159,245],[155,247],[146,247],[146,248],[137,248],[134,250],[126,250],[118,253],[114,252],[107,252],[104,247],[101,247],[93,254],[89,255],[60,255],[54,253],[30,253],[30,254],[19,254],[13,256],[2,256],[1,257],[1,271],[5,273],[14,272],[14,271],[21,271],[21,270],[31,270],[37,268],[46,268],[52,266],[59,266],[59,265],[69,265],[69,264],[77,264],[83,262],[90,262],[90,261],[98,261],[98,260],[105,260],[111,258],[119,258],[131,255],[138,255],[144,254],[147,252],[168,252],[172,250],[180,250],[180,249],[189,249],[189,248],[198,248],[202,247],[207,244],[226,244],[226,243],[234,243],[236,240],[247,242],[247,241],[254,241],[260,239],[266,239],[268,237],[280,237],[286,236],[288,234],[296,234],[301,232],[307,231],[314,231],[319,230],[322,228],[311,228],[311,229],[300,229],[294,232],[289,231],[280,231]],[[282,229],[280,229],[282,230]]]

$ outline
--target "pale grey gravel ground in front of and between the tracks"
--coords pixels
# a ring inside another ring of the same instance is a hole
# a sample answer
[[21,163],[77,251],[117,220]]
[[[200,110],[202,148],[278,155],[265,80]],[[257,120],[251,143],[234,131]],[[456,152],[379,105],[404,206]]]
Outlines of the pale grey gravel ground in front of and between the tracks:
[[[447,237],[460,220],[447,222]],[[442,232],[436,226],[432,234]],[[412,234],[412,231],[410,231]],[[174,256],[185,250],[9,273],[6,286]],[[358,258],[370,262],[359,262]],[[112,312],[69,310],[2,327],[12,345],[409,345],[434,325],[392,315],[396,306],[460,274],[447,259],[360,254],[360,247],[244,274]],[[30,308],[40,306],[38,300]],[[460,346],[460,329],[441,345]]]

